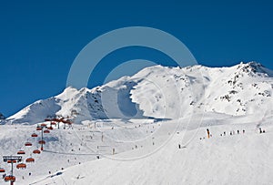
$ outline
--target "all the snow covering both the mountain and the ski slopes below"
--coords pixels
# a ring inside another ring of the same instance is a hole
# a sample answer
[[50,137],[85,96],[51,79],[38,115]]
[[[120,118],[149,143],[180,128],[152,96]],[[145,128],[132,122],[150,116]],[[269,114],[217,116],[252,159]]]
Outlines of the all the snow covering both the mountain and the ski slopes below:
[[[255,62],[156,66],[102,87],[67,87],[4,120],[0,157],[24,149],[23,159],[35,158],[15,169],[15,184],[273,184],[272,77]],[[36,125],[55,117],[75,124],[45,134],[45,150],[32,154]],[[10,165],[0,168],[9,174]]]

